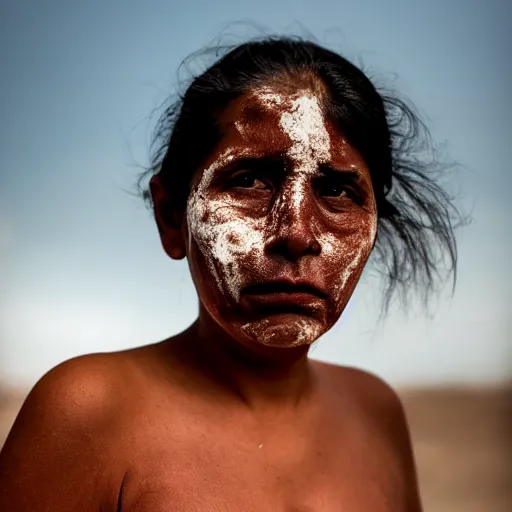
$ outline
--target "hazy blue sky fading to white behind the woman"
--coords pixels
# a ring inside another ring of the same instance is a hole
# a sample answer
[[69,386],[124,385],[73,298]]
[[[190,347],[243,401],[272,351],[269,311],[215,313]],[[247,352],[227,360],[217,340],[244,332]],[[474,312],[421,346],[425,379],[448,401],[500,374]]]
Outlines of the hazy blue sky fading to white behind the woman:
[[147,163],[150,114],[179,63],[237,21],[303,26],[362,61],[463,166],[454,186],[474,222],[459,237],[454,298],[429,321],[392,312],[376,328],[368,278],[313,356],[404,384],[510,376],[511,20],[498,0],[2,0],[0,378],[30,384],[68,357],[157,341],[194,319],[186,263],[166,258],[124,189]]

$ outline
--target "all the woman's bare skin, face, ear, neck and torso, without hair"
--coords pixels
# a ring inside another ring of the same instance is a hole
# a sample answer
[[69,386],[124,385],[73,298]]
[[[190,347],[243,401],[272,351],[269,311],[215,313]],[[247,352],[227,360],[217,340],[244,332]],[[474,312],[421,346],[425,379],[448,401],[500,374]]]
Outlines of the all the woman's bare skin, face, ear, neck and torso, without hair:
[[[318,118],[314,94],[267,93],[224,113],[172,222],[152,181],[162,243],[188,259],[198,320],[47,374],[0,455],[1,510],[420,511],[396,394],[308,358],[375,241],[368,169]],[[300,280],[309,288],[290,287]]]

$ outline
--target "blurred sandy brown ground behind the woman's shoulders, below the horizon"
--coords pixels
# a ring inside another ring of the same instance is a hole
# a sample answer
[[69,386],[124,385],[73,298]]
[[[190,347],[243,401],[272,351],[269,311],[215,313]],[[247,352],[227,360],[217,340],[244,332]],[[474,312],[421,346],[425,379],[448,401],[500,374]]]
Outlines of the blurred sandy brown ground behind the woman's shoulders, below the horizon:
[[[401,394],[425,512],[512,511],[512,386]],[[0,390],[0,447],[23,396]]]

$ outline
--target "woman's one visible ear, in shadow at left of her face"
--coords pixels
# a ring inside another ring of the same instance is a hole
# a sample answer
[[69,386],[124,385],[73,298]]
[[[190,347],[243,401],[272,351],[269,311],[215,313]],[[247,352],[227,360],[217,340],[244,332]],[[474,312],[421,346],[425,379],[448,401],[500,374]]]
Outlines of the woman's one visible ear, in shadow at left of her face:
[[182,231],[184,212],[174,207],[160,175],[157,174],[151,178],[149,190],[164,251],[170,258],[181,260],[187,255]]

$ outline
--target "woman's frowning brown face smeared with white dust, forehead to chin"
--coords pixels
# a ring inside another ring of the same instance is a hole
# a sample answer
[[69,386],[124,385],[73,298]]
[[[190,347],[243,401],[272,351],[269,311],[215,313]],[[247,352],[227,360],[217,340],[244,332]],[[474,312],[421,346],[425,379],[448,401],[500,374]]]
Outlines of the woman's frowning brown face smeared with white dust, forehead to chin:
[[372,250],[369,171],[308,90],[255,90],[220,125],[183,229],[202,306],[244,344],[309,345],[338,320]]

